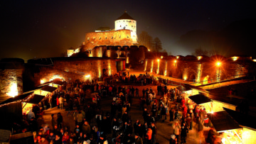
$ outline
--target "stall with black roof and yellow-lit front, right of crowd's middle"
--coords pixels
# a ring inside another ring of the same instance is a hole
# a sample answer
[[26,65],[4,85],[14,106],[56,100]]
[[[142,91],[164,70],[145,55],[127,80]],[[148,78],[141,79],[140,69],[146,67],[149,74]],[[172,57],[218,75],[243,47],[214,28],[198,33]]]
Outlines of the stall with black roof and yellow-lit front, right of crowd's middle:
[[194,96],[188,96],[188,106],[196,107],[198,105],[201,109],[206,108],[206,112],[213,111],[213,101],[203,94],[196,94]]

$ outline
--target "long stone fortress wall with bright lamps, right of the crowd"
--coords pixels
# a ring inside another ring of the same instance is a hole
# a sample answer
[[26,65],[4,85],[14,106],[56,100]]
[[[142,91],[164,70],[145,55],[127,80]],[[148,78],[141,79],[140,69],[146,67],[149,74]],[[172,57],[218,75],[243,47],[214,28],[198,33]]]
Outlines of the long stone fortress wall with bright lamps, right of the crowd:
[[208,57],[207,60],[198,60],[197,57],[192,59],[188,57],[177,59],[170,56],[163,59],[154,57],[145,60],[144,70],[190,82],[201,82],[201,84],[245,77],[255,72],[256,62],[250,57],[240,57],[238,60],[229,57],[219,61],[220,66],[217,65],[214,57]]

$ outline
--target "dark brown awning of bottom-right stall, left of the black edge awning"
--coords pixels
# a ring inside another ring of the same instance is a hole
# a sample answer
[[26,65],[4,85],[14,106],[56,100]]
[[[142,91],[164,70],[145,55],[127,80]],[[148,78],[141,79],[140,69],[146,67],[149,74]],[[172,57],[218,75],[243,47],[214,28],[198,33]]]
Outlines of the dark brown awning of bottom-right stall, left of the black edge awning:
[[217,132],[241,128],[239,124],[236,123],[235,120],[228,115],[226,111],[208,113],[207,115]]

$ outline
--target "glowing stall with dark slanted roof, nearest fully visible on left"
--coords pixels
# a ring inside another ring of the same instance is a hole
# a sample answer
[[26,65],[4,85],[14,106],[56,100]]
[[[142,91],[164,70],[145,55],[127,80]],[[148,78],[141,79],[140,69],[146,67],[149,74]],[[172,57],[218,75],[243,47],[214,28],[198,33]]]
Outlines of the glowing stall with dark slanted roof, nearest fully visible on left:
[[38,104],[45,96],[41,96],[38,94],[33,94],[30,99],[27,101],[23,101],[22,104],[22,113],[23,115],[27,114],[28,111],[32,110],[33,104]]

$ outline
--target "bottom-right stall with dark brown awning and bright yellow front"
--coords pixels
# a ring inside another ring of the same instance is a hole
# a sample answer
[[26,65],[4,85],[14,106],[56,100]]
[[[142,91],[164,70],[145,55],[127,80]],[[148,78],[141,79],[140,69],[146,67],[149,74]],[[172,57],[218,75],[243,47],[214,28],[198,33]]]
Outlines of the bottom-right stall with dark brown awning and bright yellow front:
[[207,115],[218,133],[218,137],[215,139],[216,143],[242,144],[242,127],[226,111],[208,113]]

